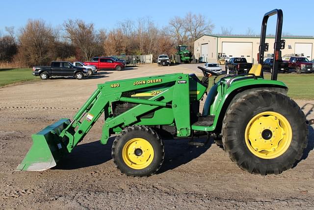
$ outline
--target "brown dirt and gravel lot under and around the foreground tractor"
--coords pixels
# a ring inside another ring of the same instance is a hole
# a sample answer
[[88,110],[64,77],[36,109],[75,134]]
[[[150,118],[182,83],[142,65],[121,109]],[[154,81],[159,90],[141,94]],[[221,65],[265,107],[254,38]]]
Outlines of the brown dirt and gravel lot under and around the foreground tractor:
[[[101,77],[83,81],[58,78],[0,88],[0,209],[314,209],[313,127],[303,159],[280,175],[248,174],[215,144],[192,148],[187,140],[167,140],[157,175],[126,177],[111,160],[113,138],[98,143],[104,120],[57,167],[14,171],[32,144],[31,134],[72,118],[96,84],[174,72],[198,71],[193,64],[155,64],[101,71]],[[314,118],[314,101],[297,103]]]

